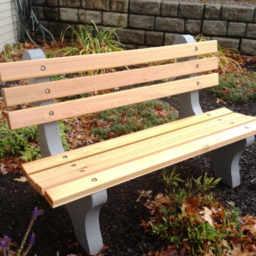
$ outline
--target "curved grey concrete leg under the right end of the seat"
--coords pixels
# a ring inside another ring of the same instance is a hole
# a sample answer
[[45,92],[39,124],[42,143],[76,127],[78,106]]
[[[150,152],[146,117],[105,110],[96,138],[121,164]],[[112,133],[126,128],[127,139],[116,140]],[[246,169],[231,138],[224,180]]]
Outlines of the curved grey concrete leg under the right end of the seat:
[[214,175],[229,187],[240,184],[239,159],[243,151],[253,145],[255,137],[251,136],[241,141],[215,149],[207,155],[213,163]]

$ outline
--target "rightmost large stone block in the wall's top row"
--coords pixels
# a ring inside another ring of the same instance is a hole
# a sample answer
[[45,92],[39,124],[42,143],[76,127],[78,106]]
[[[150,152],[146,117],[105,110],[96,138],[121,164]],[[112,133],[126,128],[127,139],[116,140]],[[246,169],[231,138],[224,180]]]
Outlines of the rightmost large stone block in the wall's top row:
[[253,22],[254,12],[254,7],[222,5],[221,19],[224,21]]

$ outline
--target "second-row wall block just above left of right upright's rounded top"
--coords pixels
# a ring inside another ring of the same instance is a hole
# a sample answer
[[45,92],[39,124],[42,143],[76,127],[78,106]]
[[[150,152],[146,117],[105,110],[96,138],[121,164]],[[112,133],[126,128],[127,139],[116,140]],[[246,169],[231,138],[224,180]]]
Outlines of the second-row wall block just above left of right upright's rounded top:
[[185,19],[156,17],[155,30],[172,33],[184,33]]

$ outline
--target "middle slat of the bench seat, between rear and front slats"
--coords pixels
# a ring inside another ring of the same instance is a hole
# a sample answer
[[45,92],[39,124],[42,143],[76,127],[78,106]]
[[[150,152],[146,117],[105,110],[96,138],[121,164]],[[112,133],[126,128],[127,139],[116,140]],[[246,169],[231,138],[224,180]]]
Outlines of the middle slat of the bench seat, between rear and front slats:
[[[86,177],[92,173],[99,173],[105,169],[133,161],[138,157],[143,157],[153,152],[156,153],[163,149],[169,149],[187,143],[188,141],[213,135],[231,127],[245,125],[253,120],[255,121],[256,119],[233,113],[228,117],[223,117],[221,120],[214,119],[200,123],[199,125],[192,125],[185,129],[179,129],[179,131],[166,133],[165,135],[156,136],[133,145],[127,145],[119,149],[75,161],[69,165],[62,165],[47,171],[35,173],[29,176],[29,183],[43,195],[44,191],[51,187]],[[72,165],[75,166],[72,167]],[[81,172],[81,170],[84,170],[84,172]]]

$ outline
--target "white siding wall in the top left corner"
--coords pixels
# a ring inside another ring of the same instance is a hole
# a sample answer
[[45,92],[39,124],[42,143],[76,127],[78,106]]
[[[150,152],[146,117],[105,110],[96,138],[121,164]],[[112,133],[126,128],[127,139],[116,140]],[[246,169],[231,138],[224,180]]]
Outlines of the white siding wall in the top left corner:
[[15,0],[0,0],[0,52],[5,43],[18,41],[17,11]]

